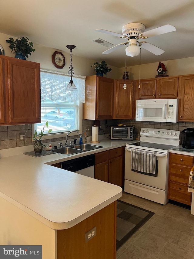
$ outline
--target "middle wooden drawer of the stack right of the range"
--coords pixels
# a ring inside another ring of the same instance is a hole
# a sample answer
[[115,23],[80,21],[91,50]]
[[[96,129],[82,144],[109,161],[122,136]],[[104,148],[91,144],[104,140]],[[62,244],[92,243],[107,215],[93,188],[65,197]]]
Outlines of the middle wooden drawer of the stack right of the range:
[[170,181],[188,184],[191,167],[170,164]]

